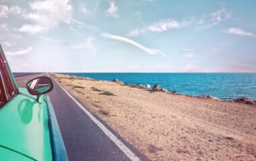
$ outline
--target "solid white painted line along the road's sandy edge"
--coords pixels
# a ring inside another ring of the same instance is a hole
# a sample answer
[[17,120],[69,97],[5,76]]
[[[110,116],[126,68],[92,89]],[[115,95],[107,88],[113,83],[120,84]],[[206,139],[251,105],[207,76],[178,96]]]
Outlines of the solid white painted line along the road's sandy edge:
[[[51,76],[51,78],[53,78],[53,76]],[[53,80],[55,80],[55,78],[53,78]],[[88,117],[90,117],[90,119],[92,119],[92,121],[94,121],[94,123],[96,123],[96,125],[100,127],[100,129],[102,129],[102,131],[106,134],[106,136],[108,136],[108,138],[110,138],[110,140],[112,140],[117,145],[117,147],[119,147],[119,149],[122,150],[130,160],[132,161],[140,160],[139,157],[136,156],[136,154],[134,154],[127,146],[125,146],[125,144],[123,144],[123,142],[121,142],[121,140],[117,138],[117,136],[115,136],[111,131],[109,131],[108,128],[106,128],[100,121],[98,121],[98,119],[96,119],[96,117],[94,117],[94,115],[92,115],[92,113],[90,113],[90,111],[88,111],[86,107],[81,105],[81,103],[79,103],[72,95],[70,95],[56,80],[55,82],[59,85],[59,87],[61,87],[61,89],[63,89],[63,91],[65,91],[65,93],[67,93],[67,95],[71,99],[73,99],[73,101],[80,107],[80,109],[82,109],[84,113],[86,113],[86,115],[88,115]]]

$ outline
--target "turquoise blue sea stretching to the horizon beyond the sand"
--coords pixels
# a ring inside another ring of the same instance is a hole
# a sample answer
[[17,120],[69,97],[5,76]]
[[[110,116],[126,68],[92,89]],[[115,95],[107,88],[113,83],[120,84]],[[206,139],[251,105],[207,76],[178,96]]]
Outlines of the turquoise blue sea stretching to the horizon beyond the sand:
[[213,95],[222,100],[250,97],[256,99],[256,73],[63,73],[99,80],[114,78],[134,85],[161,85],[168,91],[185,95]]

